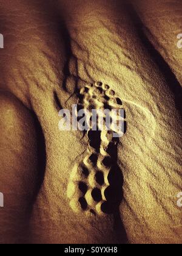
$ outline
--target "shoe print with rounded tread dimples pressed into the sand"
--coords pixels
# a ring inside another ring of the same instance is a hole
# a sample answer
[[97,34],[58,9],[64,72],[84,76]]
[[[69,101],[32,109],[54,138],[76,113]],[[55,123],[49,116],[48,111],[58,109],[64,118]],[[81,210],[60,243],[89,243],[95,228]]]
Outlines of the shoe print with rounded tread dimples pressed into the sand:
[[[123,109],[115,91],[101,82],[81,88],[78,99],[79,107],[87,110]],[[91,129],[87,131],[87,138],[87,151],[70,174],[67,188],[70,207],[76,213],[85,212],[89,216],[110,214],[118,209],[123,197],[123,176],[117,165],[120,139],[113,137],[113,130]]]

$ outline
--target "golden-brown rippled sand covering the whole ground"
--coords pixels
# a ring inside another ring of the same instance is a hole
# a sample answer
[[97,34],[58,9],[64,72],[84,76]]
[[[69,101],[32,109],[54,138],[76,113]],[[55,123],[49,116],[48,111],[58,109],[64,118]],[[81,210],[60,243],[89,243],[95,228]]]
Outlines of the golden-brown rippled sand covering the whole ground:
[[[0,33],[0,243],[181,243],[182,2],[0,0]],[[58,129],[93,85],[126,112],[110,154]]]

